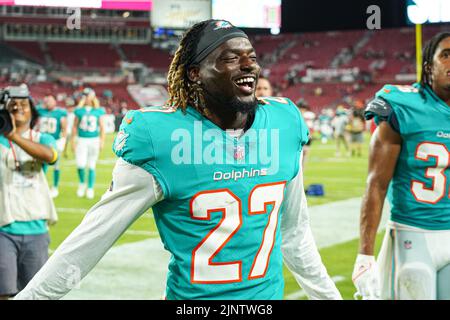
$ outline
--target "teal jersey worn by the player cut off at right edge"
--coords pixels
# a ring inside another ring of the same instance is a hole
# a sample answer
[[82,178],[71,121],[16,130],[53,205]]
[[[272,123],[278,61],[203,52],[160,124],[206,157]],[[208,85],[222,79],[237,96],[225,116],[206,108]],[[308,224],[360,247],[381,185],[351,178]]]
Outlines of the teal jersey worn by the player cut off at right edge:
[[429,88],[386,85],[376,95],[391,106],[402,148],[388,190],[393,221],[450,229],[450,107]]

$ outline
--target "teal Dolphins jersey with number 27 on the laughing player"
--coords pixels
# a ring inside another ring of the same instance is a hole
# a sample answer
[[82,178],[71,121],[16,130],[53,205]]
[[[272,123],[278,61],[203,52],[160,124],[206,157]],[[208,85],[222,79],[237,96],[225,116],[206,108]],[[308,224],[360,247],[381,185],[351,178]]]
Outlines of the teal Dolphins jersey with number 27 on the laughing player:
[[309,133],[290,100],[263,101],[240,137],[191,107],[123,120],[114,152],[164,193],[153,213],[171,253],[167,299],[283,298],[283,200]]

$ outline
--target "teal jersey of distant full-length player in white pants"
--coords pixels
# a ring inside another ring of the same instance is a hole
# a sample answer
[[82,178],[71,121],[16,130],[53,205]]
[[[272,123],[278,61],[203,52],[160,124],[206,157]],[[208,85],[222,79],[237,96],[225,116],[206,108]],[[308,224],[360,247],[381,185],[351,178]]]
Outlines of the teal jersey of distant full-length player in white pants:
[[80,138],[97,138],[100,136],[100,118],[106,114],[104,108],[84,106],[75,109],[78,119],[78,136]]

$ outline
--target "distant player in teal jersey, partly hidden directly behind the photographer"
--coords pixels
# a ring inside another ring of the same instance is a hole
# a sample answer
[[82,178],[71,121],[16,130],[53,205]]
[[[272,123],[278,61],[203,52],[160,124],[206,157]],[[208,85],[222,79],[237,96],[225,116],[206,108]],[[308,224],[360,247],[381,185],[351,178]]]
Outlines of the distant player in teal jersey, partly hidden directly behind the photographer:
[[[53,95],[44,98],[43,108],[38,108],[39,113],[39,131],[50,134],[56,140],[58,153],[62,154],[66,144],[67,135],[67,110],[56,106],[56,99]],[[59,161],[54,165],[53,187],[50,193],[53,198],[59,194],[58,186],[61,176]]]

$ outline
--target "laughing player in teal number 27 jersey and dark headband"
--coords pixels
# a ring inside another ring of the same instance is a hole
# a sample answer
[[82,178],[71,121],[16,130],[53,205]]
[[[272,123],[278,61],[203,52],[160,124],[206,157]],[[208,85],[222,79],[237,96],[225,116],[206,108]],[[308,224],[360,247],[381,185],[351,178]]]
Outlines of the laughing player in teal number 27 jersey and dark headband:
[[167,299],[282,299],[283,259],[310,298],[341,299],[309,226],[308,130],[290,100],[256,99],[259,72],[229,22],[189,29],[167,105],[126,115],[110,190],[17,299],[66,294],[68,270],[84,277],[150,207],[172,255]]

